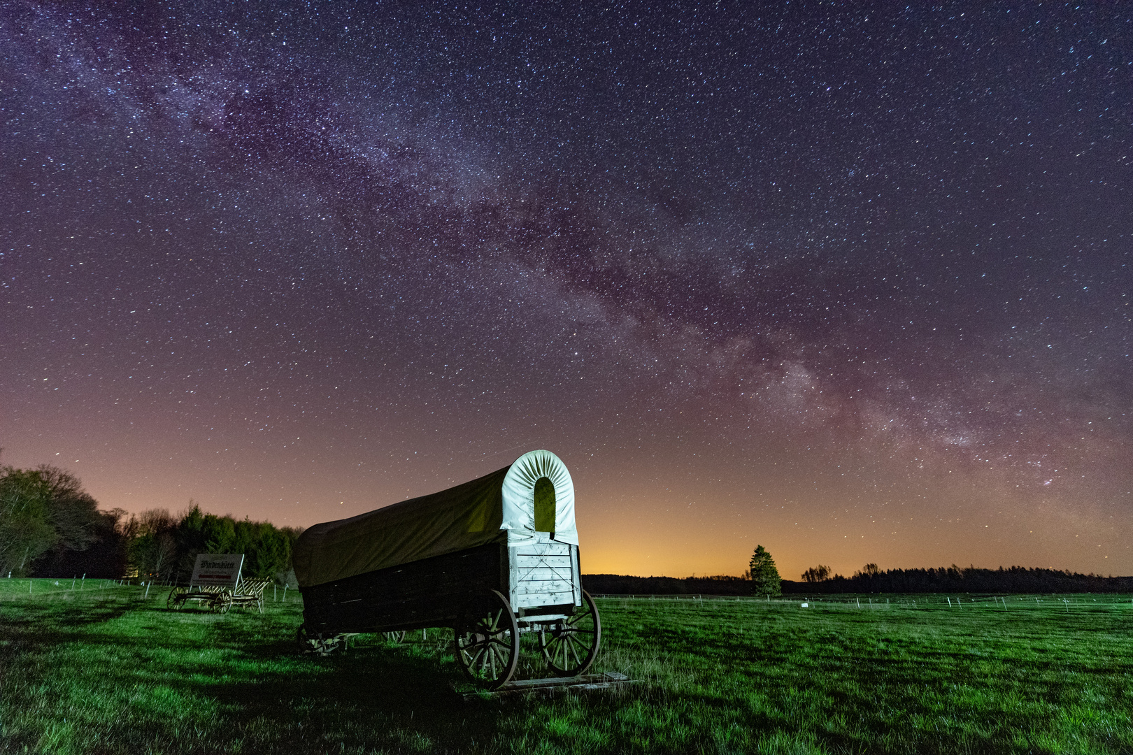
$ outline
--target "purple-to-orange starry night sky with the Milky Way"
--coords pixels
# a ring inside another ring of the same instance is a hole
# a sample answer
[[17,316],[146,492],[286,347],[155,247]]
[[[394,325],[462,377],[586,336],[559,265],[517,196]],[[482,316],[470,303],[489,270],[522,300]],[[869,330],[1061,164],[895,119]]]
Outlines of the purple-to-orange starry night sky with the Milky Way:
[[3,3],[0,462],[1133,574],[1133,7],[759,5]]

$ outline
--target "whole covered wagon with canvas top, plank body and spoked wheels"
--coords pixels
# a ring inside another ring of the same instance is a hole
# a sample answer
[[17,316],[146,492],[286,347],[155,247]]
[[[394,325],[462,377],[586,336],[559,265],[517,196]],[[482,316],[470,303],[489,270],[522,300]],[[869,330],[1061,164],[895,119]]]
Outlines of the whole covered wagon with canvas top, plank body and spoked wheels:
[[579,580],[574,484],[533,451],[471,482],[306,530],[295,548],[298,641],[325,650],[352,633],[452,627],[457,661],[496,688],[520,634],[537,633],[552,674],[582,674],[598,610]]

